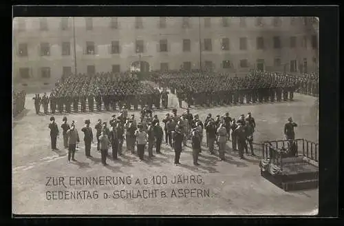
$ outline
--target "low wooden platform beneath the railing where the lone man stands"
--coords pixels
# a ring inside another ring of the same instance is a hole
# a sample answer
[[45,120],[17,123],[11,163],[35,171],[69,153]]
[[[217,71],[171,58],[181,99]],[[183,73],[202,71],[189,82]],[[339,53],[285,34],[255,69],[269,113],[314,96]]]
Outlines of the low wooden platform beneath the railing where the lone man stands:
[[283,158],[283,167],[279,174],[272,175],[261,170],[261,176],[286,192],[318,187],[319,168],[303,157]]

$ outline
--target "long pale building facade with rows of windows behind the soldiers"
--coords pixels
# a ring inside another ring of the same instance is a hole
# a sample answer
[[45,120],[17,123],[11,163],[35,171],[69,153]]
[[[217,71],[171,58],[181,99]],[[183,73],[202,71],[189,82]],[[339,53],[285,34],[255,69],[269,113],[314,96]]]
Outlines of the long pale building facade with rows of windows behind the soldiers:
[[137,65],[310,72],[319,62],[319,23],[309,17],[16,17],[13,29],[14,81]]

